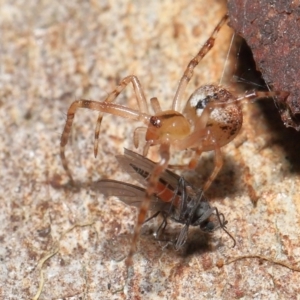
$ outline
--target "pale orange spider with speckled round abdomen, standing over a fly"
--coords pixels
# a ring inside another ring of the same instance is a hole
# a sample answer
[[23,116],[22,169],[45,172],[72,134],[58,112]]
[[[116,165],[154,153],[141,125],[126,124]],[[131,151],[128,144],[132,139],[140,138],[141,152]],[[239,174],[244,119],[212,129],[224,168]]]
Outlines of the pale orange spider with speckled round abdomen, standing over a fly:
[[[226,23],[227,19],[227,15],[221,19],[212,35],[197,55],[189,62],[183,76],[180,79],[179,86],[173,99],[172,108],[170,110],[162,111],[158,99],[151,98],[150,103],[154,110],[154,115],[149,114],[143,89],[138,78],[134,75],[125,77],[116,89],[108,95],[104,102],[77,100],[71,104],[68,110],[66,125],[61,137],[60,156],[63,167],[68,173],[71,182],[73,182],[73,179],[65,158],[65,145],[68,142],[74,115],[78,108],[87,108],[101,112],[97,120],[95,131],[95,156],[98,151],[97,145],[100,125],[103,117],[102,113],[108,113],[134,121],[141,121],[146,125],[146,127],[137,127],[133,138],[134,145],[137,147],[139,134],[141,132],[145,133],[146,144],[143,151],[144,156],[147,155],[150,146],[159,146],[158,151],[160,154],[160,161],[156,164],[149,178],[146,195],[140,207],[130,252],[126,260],[127,266],[132,264],[132,255],[135,252],[135,246],[139,237],[141,226],[146,218],[151,195],[155,193],[155,188],[160,175],[168,167],[171,148],[176,151],[182,151],[188,148],[195,151],[195,154],[190,160],[188,166],[174,166],[177,168],[194,168],[203,151],[214,150],[215,167],[212,174],[204,184],[203,190],[205,191],[209,188],[222,167],[223,162],[220,148],[234,139],[241,129],[243,114],[240,102],[242,100],[249,101],[257,98],[275,96],[285,98],[289,95],[288,92],[251,91],[246,92],[241,97],[236,97],[221,86],[204,85],[195,90],[195,92],[190,96],[183,113],[178,111],[185,88],[193,76],[194,68],[213,47],[217,33]],[[138,110],[112,103],[129,83],[132,83],[133,85]]]

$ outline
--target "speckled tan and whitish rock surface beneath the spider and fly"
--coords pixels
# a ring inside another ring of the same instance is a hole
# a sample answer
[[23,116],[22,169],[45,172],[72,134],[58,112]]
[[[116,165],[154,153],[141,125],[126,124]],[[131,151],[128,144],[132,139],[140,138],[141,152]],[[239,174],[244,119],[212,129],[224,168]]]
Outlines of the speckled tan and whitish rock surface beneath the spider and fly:
[[[242,132],[223,148],[224,166],[207,192],[236,247],[221,230],[204,237],[193,229],[176,252],[154,239],[154,221],[143,230],[129,277],[123,258],[136,211],[90,186],[100,178],[132,182],[114,156],[134,150],[140,124],[105,116],[95,159],[97,113],[79,110],[66,147],[76,188],[59,157],[69,105],[103,100],[126,75],[137,75],[147,99],[170,108],[185,66],[226,3],[0,3],[1,299],[297,298],[300,142],[272,101],[243,106]],[[197,86],[220,82],[231,34],[222,28],[186,99]],[[233,89],[230,78],[222,83]],[[136,105],[131,87],[117,103]],[[150,158],[158,159],[155,149]],[[212,168],[213,153],[205,153],[189,180],[201,186]],[[176,233],[170,224],[166,235]]]

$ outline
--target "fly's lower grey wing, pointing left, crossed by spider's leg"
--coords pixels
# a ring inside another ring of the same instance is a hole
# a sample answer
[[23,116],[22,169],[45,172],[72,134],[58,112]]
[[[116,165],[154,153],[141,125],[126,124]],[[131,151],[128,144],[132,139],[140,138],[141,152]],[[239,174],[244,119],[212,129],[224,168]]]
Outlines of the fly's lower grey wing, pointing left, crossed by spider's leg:
[[[99,180],[95,182],[92,187],[105,196],[115,196],[118,197],[124,203],[140,207],[141,202],[145,198],[145,189],[117,180]],[[152,195],[150,210],[152,211],[166,211],[169,208],[168,203],[161,201],[157,195]]]

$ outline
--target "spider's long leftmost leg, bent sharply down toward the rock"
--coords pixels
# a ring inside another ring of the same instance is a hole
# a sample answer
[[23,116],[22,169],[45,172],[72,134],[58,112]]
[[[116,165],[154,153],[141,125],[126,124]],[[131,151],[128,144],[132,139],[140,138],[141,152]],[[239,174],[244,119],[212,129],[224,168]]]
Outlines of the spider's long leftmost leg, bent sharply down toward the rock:
[[98,102],[94,100],[84,100],[84,99],[74,101],[68,109],[67,121],[60,140],[60,157],[61,157],[62,165],[65,171],[67,172],[71,182],[73,182],[73,177],[69,170],[68,163],[65,157],[65,146],[68,143],[68,137],[72,128],[75,113],[78,108],[87,108],[91,110],[96,110],[96,111],[100,111],[101,113],[108,113],[123,118],[131,119],[131,120],[142,121],[145,124],[148,124],[150,119],[150,116],[146,113],[142,113],[138,110],[130,109],[128,107],[118,105],[115,103],[109,103],[107,101]]

